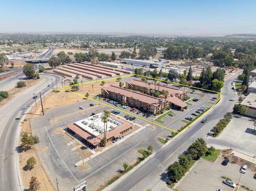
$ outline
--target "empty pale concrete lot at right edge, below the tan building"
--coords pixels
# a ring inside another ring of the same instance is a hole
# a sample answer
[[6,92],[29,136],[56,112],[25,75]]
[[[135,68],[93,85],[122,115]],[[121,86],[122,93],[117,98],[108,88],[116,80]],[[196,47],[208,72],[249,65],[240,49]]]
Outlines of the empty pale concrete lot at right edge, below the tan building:
[[252,133],[253,123],[252,118],[233,116],[223,132],[217,138],[206,137],[206,143],[209,146],[213,145],[216,149],[227,149],[231,146],[232,149],[254,156],[256,155],[256,132]]

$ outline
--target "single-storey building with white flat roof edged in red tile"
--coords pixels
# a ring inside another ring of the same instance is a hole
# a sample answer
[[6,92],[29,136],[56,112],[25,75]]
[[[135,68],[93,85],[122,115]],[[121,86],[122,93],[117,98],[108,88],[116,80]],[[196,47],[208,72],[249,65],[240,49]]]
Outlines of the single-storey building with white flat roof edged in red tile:
[[[76,138],[80,138],[92,148],[102,145],[104,137],[104,123],[102,111],[93,112],[93,115],[80,120],[78,122],[67,125],[68,132],[74,134]],[[132,133],[132,124],[126,123],[113,116],[108,117],[106,140],[115,141],[121,136]]]

